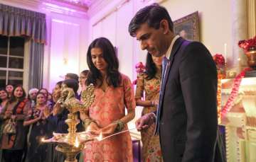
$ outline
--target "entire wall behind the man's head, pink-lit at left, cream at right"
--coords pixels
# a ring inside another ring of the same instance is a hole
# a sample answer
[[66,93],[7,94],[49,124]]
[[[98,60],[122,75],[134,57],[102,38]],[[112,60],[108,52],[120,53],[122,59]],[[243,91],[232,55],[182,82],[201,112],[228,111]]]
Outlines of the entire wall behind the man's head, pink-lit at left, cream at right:
[[[90,18],[90,42],[96,37],[109,38],[118,48],[119,70],[132,80],[136,79],[134,66],[137,62],[145,62],[146,52],[142,52],[139,43],[129,36],[129,21],[139,8],[152,2],[130,0],[113,11],[122,0],[113,1]],[[173,21],[198,11],[201,42],[208,47],[211,54],[223,54],[225,44],[227,44],[227,52],[232,52],[230,0],[166,0],[161,5],[167,8]]]

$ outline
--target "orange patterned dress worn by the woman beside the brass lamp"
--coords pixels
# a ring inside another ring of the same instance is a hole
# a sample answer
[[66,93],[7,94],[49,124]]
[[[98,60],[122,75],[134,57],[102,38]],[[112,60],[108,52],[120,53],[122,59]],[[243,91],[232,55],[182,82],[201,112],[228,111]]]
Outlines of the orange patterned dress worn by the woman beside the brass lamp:
[[[134,109],[134,91],[132,83],[127,76],[122,74],[122,85],[114,88],[108,86],[105,91],[95,88],[95,102],[89,109],[92,120],[99,127],[106,127],[125,115],[125,109]],[[128,129],[127,125],[124,130]],[[132,158],[132,139],[129,132],[117,134],[103,141],[88,142],[84,150],[84,161],[93,162],[130,162]]]

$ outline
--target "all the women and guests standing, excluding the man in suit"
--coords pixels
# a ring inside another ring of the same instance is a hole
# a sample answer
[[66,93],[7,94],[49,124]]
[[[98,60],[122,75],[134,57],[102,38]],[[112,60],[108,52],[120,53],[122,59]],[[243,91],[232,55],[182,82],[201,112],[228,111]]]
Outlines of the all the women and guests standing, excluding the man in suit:
[[[69,112],[58,103],[65,87],[72,88],[75,98],[80,100],[79,86],[81,91],[90,83],[95,86],[95,100],[89,112],[76,114],[79,123],[77,132],[90,127],[93,134],[107,137],[128,129],[127,122],[134,118],[136,105],[144,107],[142,115],[156,110],[161,58],[148,54],[146,71],[137,77],[136,93],[129,77],[118,71],[119,61],[114,47],[105,37],[91,43],[87,64],[89,70],[81,71],[80,76],[66,74],[63,81],[55,83],[51,93],[46,88],[31,88],[26,95],[21,85],[10,84],[0,89],[0,162],[64,161],[64,155],[55,151],[56,144],[44,144],[41,140],[53,137],[53,132],[68,133],[65,120]],[[142,132],[142,143],[144,161],[162,161],[154,125]],[[85,148],[77,156],[80,161],[133,161],[129,132],[104,141],[88,142]]]

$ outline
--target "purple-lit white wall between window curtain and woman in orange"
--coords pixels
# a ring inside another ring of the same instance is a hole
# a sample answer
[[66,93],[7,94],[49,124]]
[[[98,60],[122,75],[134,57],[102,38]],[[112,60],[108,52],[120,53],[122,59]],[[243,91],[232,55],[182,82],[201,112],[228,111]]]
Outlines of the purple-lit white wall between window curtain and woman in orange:
[[48,59],[45,60],[48,69],[44,72],[43,86],[51,91],[65,74],[79,74],[87,69],[88,21],[58,13],[50,13],[48,18],[49,45]]

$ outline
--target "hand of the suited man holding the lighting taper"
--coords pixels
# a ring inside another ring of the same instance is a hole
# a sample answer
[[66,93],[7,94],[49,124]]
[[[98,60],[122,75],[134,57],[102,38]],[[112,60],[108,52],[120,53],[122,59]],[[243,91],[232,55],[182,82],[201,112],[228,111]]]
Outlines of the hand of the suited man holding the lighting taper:
[[153,112],[151,113],[147,113],[145,115],[143,115],[142,117],[140,117],[136,122],[136,128],[137,130],[140,132],[143,129],[148,128],[150,125],[152,125],[156,120],[155,115],[153,114]]

